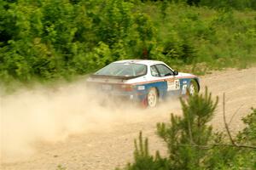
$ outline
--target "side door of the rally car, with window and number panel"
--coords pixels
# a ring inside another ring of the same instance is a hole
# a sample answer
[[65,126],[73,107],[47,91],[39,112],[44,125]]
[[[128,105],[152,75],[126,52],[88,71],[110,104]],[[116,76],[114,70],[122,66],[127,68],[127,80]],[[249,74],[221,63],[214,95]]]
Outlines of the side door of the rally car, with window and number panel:
[[175,77],[173,71],[166,65],[155,65],[157,71],[160,74],[160,78],[166,82],[166,96],[179,95],[180,94],[180,81]]

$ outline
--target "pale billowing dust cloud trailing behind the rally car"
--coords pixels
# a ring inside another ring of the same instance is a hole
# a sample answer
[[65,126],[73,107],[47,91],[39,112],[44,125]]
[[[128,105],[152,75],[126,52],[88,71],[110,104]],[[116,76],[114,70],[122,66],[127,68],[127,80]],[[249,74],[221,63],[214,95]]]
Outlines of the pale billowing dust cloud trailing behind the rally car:
[[116,124],[142,122],[179,108],[177,101],[150,110],[112,102],[108,96],[86,88],[84,81],[23,89],[0,94],[0,99],[2,162],[32,156],[36,152],[33,144],[38,141],[54,143],[71,134],[108,132]]

